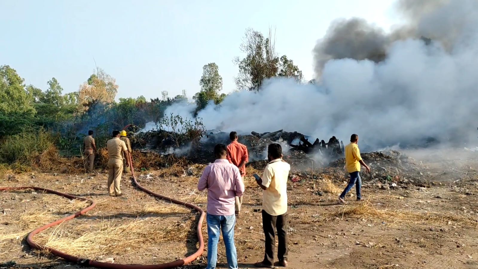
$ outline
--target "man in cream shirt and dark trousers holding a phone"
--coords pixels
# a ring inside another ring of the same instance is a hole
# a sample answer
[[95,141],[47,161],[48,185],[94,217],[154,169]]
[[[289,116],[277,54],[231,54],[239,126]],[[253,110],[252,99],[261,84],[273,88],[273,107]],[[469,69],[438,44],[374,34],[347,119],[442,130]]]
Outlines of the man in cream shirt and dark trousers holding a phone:
[[254,266],[273,268],[275,230],[279,245],[277,258],[279,266],[287,266],[287,179],[291,166],[282,160],[282,147],[274,143],[268,147],[269,163],[264,168],[262,178],[257,184],[262,188],[262,227],[265,235],[265,254],[261,262]]

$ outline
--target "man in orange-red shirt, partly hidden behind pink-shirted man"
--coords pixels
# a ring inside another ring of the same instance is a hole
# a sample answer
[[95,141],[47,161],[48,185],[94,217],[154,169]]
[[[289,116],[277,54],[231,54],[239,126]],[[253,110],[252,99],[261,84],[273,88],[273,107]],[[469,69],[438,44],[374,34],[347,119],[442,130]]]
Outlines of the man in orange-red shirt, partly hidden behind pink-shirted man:
[[[238,142],[238,133],[231,132],[229,134],[231,143],[228,145],[228,161],[239,168],[242,182],[244,182],[244,176],[246,175],[246,164],[249,162],[249,154],[247,153],[247,146]],[[242,205],[242,197],[236,196],[236,214],[240,212],[240,206]]]

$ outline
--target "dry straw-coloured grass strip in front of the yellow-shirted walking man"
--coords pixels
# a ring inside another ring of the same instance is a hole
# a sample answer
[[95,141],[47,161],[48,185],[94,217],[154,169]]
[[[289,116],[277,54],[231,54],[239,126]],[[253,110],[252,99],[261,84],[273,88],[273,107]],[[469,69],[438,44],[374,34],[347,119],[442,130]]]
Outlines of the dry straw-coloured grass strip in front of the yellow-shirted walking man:
[[412,212],[405,210],[377,209],[369,200],[355,205],[345,205],[332,216],[343,218],[367,217],[380,221],[386,221],[388,225],[413,225],[413,224],[455,224],[476,227],[476,220],[453,213],[438,212]]

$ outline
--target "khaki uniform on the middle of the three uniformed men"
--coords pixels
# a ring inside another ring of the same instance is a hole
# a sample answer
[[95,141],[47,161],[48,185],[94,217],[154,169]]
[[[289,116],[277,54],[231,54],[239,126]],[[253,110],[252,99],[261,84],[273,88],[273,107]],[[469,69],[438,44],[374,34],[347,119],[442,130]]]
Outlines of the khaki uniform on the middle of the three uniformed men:
[[123,151],[127,151],[126,144],[118,137],[106,142],[108,149],[108,192],[109,195],[121,194],[120,181],[123,173]]

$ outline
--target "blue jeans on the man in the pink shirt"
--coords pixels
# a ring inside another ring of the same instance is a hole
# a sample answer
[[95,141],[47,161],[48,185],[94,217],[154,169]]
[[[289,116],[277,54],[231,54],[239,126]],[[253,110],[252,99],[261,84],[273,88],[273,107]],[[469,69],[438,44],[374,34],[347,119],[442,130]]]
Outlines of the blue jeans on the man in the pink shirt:
[[238,257],[236,246],[234,246],[234,226],[236,225],[236,215],[218,216],[207,214],[207,267],[206,269],[215,269],[217,263],[217,242],[219,233],[222,231],[222,239],[226,245],[226,258],[228,259],[229,269],[238,268]]

